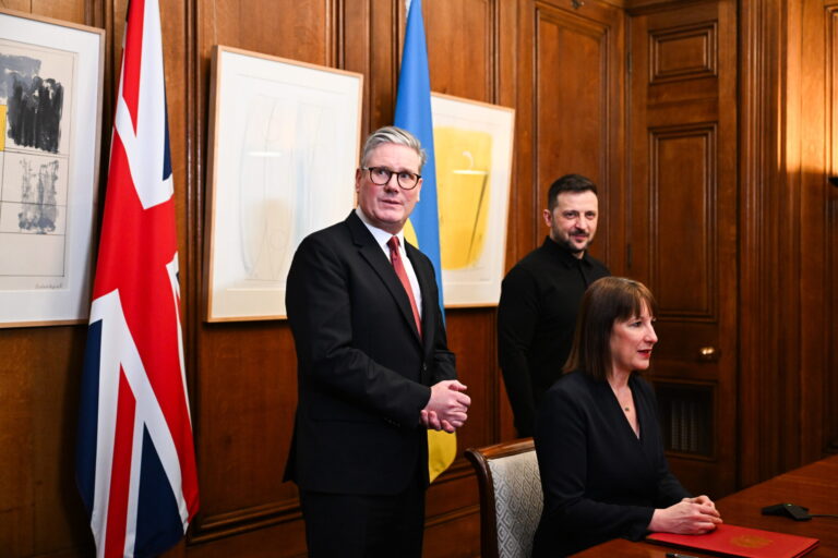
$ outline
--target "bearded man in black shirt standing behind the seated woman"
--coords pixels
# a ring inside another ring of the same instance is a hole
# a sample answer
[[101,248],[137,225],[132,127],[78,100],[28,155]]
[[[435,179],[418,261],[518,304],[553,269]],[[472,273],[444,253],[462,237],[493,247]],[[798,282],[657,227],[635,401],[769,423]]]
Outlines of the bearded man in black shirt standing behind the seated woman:
[[599,218],[594,182],[553,182],[543,217],[549,236],[506,274],[498,307],[498,355],[520,437],[532,436],[536,409],[562,374],[585,289],[611,275],[587,253]]

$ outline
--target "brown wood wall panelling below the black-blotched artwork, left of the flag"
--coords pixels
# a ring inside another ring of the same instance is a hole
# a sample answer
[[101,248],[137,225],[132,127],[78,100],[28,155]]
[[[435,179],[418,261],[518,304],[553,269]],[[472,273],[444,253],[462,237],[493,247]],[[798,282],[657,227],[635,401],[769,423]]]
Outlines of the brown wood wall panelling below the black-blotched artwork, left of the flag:
[[86,328],[0,333],[0,556],[84,544],[73,445]]

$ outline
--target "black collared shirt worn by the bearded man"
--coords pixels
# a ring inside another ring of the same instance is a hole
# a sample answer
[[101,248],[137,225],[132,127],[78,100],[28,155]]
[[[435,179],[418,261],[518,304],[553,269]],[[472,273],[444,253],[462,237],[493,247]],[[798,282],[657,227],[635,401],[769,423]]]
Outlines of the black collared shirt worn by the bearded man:
[[577,258],[547,236],[503,279],[498,356],[518,436],[532,436],[536,409],[562,375],[585,289],[609,275],[587,252]]

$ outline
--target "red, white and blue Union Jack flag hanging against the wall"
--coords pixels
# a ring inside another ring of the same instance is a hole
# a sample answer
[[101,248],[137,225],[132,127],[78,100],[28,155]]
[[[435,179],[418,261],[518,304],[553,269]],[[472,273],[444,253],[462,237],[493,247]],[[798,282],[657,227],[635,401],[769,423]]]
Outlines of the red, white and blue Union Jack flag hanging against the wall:
[[131,0],[82,378],[97,556],[155,556],[197,511],[157,0]]

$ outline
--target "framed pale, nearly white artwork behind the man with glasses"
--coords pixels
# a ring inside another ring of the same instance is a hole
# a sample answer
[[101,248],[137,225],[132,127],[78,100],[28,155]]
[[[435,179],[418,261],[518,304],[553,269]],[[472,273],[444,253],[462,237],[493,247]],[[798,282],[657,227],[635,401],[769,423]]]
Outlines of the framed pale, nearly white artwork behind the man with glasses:
[[355,206],[362,85],[358,73],[215,47],[207,322],[285,317],[297,246]]

